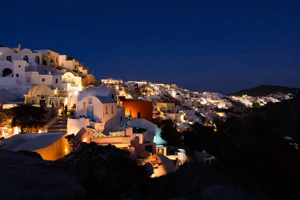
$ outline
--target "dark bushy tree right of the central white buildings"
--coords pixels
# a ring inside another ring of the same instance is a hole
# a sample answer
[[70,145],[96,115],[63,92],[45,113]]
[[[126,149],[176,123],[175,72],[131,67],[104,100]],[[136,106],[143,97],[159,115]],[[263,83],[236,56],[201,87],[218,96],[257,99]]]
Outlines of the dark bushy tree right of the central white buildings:
[[172,120],[162,120],[157,126],[160,127],[160,137],[165,140],[168,145],[180,146],[182,144],[181,134],[177,130],[177,124]]

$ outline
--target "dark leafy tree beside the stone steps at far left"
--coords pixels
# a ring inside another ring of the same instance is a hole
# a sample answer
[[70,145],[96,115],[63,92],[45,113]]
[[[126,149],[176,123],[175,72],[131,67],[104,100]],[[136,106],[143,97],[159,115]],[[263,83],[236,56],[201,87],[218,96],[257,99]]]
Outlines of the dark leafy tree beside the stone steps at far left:
[[44,124],[45,114],[46,111],[43,107],[18,104],[0,110],[0,125],[19,127],[21,134],[35,132]]

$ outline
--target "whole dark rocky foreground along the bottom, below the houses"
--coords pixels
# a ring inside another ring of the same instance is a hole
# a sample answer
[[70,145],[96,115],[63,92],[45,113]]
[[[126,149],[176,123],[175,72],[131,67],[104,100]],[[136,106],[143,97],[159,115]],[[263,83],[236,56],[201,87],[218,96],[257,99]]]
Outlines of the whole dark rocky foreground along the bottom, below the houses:
[[68,159],[46,161],[37,153],[0,149],[1,199],[259,199],[198,163],[150,179],[143,166],[120,151],[98,165],[82,164],[82,156]]

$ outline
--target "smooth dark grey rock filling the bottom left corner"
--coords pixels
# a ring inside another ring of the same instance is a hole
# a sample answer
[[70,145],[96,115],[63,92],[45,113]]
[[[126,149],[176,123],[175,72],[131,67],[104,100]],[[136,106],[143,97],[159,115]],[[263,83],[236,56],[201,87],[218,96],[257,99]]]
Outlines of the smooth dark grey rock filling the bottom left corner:
[[76,176],[52,161],[0,149],[1,199],[86,199]]

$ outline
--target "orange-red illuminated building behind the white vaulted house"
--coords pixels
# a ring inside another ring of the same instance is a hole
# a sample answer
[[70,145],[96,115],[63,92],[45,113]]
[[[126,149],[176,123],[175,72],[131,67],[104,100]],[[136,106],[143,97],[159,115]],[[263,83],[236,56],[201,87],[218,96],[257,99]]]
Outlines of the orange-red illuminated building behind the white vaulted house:
[[152,101],[121,97],[120,106],[125,107],[125,116],[131,114],[132,118],[144,118],[152,122]]

